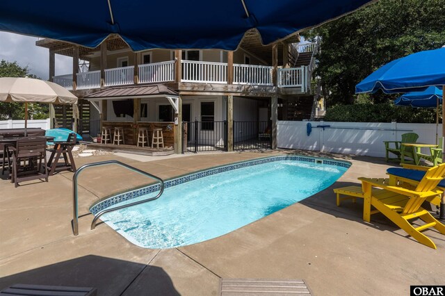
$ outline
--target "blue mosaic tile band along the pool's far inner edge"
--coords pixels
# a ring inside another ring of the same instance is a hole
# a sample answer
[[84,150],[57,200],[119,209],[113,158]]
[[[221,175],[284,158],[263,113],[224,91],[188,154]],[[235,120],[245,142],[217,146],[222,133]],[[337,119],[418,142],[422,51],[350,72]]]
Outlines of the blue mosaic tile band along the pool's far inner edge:
[[[192,174],[188,174],[186,176],[180,176],[178,178],[165,181],[164,185],[165,185],[165,189],[166,189],[166,188],[169,188],[172,186],[177,186],[182,183],[186,183],[189,181],[203,178],[204,176],[211,176],[213,174],[219,174],[221,172],[227,172],[230,170],[237,170],[237,169],[241,169],[243,167],[250,167],[252,165],[261,165],[263,163],[272,163],[274,161],[306,161],[308,163],[318,163],[318,161],[321,161],[325,165],[337,165],[339,167],[346,167],[346,168],[349,168],[351,165],[351,163],[346,162],[346,161],[332,161],[332,160],[328,160],[325,158],[314,158],[314,157],[296,156],[296,155],[272,156],[272,157],[268,157],[268,158],[254,159],[252,161],[244,161],[242,163],[223,165],[220,167],[214,167],[213,169],[204,170],[202,172],[195,172]],[[159,191],[159,189],[160,189],[160,185],[154,184],[154,185],[147,186],[144,188],[132,190],[130,192],[125,192],[120,195],[115,195],[114,197],[110,197],[108,199],[105,199],[102,202],[98,202],[97,204],[94,204],[90,208],[90,212],[93,215],[96,215],[100,211],[103,211],[105,208],[108,208],[115,204],[119,204],[121,202],[126,202],[128,200],[135,199],[136,197],[140,197],[140,196],[152,193],[152,192]]]

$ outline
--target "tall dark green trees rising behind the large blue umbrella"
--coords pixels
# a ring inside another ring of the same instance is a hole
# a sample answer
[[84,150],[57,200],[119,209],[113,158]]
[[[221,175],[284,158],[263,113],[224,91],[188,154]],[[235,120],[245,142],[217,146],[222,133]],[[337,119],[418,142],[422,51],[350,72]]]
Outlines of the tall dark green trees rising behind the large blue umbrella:
[[[353,104],[355,85],[382,65],[445,44],[444,0],[380,0],[302,35],[323,40],[315,75],[330,93],[328,106]],[[395,97],[378,92],[370,99]]]

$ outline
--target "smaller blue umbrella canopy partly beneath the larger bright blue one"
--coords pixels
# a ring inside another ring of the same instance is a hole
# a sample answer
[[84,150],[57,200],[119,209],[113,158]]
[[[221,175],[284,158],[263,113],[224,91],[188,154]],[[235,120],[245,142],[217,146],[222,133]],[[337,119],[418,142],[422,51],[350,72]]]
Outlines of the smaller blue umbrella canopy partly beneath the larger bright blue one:
[[430,86],[423,92],[407,92],[394,100],[394,104],[412,107],[436,107],[437,98],[439,98],[439,104],[442,104],[442,97],[441,89]]

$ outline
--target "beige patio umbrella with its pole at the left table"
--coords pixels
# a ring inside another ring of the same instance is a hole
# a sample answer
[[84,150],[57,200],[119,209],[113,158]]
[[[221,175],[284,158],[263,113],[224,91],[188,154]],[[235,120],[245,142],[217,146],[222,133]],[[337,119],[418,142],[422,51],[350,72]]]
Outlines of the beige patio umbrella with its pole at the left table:
[[0,101],[25,104],[26,135],[28,103],[76,104],[77,97],[53,82],[22,77],[0,77]]

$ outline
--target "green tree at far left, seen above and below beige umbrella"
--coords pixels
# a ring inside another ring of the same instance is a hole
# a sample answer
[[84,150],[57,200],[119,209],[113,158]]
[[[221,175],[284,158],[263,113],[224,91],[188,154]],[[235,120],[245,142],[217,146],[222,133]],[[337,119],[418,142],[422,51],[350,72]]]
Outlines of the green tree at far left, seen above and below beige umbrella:
[[[30,73],[29,67],[20,67],[17,62],[10,63],[6,60],[0,61],[0,77],[26,77],[38,79]],[[28,116],[35,120],[48,117],[48,104],[28,104]],[[0,120],[23,120],[25,117],[24,104],[0,102]]]

